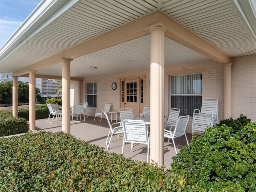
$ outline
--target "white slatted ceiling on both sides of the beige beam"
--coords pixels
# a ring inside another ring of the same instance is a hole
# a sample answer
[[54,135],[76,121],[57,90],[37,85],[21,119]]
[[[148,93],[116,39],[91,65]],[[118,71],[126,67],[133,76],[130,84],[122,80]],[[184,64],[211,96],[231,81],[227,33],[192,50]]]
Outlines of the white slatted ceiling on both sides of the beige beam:
[[[46,3],[43,0],[40,8]],[[31,25],[33,30],[27,28],[20,38],[13,36],[0,49],[0,73],[20,70],[157,10],[230,57],[256,54],[255,14],[248,4],[241,6],[238,0],[58,0],[58,5],[51,6],[35,19],[40,26]],[[244,14],[245,8],[249,16]],[[207,60],[210,58],[165,38],[166,66]],[[98,69],[89,70],[90,66]],[[75,58],[71,76],[147,68],[150,35]],[[61,76],[61,64],[36,74]]]

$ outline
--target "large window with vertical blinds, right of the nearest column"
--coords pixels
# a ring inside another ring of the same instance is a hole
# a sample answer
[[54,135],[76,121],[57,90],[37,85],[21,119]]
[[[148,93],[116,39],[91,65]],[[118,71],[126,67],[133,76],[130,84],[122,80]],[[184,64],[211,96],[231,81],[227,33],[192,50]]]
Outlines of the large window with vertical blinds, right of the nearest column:
[[180,115],[193,116],[202,105],[202,74],[170,76],[170,101]]

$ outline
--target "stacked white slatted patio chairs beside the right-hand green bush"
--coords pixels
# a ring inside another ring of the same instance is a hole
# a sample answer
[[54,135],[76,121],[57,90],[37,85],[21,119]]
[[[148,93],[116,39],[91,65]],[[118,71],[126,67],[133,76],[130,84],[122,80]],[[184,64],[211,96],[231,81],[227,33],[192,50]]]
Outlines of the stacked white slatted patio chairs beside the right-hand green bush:
[[202,133],[206,128],[218,123],[218,99],[204,98],[201,110],[194,110],[192,134],[194,132]]

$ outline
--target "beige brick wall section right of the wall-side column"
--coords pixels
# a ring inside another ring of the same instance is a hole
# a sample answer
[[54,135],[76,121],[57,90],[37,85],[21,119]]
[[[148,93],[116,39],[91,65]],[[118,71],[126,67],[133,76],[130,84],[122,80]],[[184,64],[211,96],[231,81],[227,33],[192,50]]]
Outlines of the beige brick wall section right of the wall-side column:
[[256,122],[256,55],[232,60],[232,117]]

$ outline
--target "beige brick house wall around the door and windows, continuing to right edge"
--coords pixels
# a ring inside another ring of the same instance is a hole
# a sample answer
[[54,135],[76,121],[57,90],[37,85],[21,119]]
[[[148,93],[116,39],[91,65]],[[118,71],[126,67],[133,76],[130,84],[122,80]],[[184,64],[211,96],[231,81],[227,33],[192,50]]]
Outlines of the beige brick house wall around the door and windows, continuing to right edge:
[[[238,118],[239,114],[244,114],[256,121],[256,56],[247,56],[234,58],[232,66],[232,116]],[[169,75],[177,71],[196,71],[202,72],[202,98],[217,98],[219,101],[219,119],[224,118],[224,67],[215,61],[196,62],[191,64],[180,64],[175,66],[166,66],[165,68],[165,105],[164,115],[169,113]],[[187,73],[187,72],[185,72]],[[182,74],[182,73],[180,73]],[[189,73],[188,73],[189,74]],[[146,101],[145,104],[150,104],[150,68],[147,70],[124,72],[118,74],[108,74],[96,76],[93,78],[84,78],[82,83],[82,102],[86,101],[86,83],[97,82],[97,108],[103,109],[105,102],[111,102],[111,110],[118,111],[120,106],[120,82],[121,78],[134,76],[146,76]],[[112,90],[111,84],[116,82],[116,90]],[[77,84],[74,83],[73,87]],[[88,108],[88,115],[94,116],[95,108]],[[187,132],[191,132],[191,120],[188,125]]]

